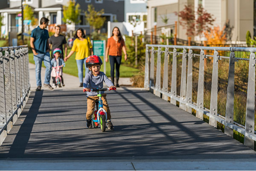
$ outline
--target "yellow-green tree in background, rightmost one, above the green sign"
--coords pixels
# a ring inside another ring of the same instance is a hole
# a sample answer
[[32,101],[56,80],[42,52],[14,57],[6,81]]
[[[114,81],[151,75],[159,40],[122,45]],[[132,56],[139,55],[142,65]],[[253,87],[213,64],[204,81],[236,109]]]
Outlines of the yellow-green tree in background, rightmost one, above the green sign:
[[106,21],[106,17],[102,17],[104,9],[95,11],[92,4],[88,5],[88,9],[85,12],[87,22],[93,27],[94,30],[100,30]]

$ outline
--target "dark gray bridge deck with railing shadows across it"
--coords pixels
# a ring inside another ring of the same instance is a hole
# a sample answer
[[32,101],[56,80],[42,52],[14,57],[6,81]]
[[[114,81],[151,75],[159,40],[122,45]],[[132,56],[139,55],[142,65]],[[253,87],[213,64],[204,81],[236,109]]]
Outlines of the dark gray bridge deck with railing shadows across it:
[[255,151],[146,90],[107,92],[114,131],[86,129],[86,96],[32,92],[0,158],[255,158]]

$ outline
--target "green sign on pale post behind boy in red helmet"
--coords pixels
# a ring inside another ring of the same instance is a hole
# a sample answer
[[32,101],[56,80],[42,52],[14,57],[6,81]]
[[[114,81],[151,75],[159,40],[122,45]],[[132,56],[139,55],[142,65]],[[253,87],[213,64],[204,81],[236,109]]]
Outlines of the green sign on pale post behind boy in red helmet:
[[93,54],[98,56],[103,56],[104,73],[106,74],[106,61],[105,52],[106,51],[106,41],[105,40],[94,40],[93,41]]

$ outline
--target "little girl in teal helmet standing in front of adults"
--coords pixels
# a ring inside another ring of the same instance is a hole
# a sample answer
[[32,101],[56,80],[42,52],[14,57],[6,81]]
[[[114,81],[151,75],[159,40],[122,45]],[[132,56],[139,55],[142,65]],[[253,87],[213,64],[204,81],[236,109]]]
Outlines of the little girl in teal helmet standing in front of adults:
[[[60,48],[56,48],[54,49],[53,51],[53,55],[55,58],[52,58],[51,60],[51,64],[52,64],[52,67],[54,66],[64,66],[65,63],[64,63],[64,60],[62,58],[60,58],[60,54],[62,53],[61,49]],[[62,80],[62,86],[65,86],[64,84],[64,81],[63,81],[63,77],[62,77],[62,67],[58,68],[59,69],[59,76],[61,77],[61,80]],[[52,84],[52,87],[55,88],[56,87],[56,71],[55,69],[52,69],[52,72],[51,72],[51,77],[53,79],[53,84]]]

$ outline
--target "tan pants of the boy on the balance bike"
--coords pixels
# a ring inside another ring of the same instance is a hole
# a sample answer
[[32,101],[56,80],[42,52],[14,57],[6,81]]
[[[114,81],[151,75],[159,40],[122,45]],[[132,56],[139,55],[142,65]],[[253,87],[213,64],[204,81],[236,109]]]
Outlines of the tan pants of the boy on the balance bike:
[[[86,112],[86,119],[87,120],[92,119],[92,115],[94,114],[96,100],[99,100],[98,96],[89,96],[89,97],[87,97],[87,112]],[[111,115],[110,115],[109,105],[107,104],[107,99],[106,99],[106,94],[105,93],[101,94],[101,100],[102,100],[102,103],[103,103],[103,108],[107,112],[107,120],[110,120]]]

